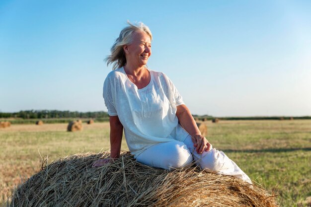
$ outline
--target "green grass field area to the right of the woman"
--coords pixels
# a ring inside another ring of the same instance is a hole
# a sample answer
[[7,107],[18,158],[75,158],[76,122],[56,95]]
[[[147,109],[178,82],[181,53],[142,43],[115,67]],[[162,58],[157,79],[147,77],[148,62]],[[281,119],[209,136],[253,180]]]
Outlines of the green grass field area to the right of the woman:
[[311,196],[311,121],[209,124],[208,139],[249,177],[279,194],[283,207]]

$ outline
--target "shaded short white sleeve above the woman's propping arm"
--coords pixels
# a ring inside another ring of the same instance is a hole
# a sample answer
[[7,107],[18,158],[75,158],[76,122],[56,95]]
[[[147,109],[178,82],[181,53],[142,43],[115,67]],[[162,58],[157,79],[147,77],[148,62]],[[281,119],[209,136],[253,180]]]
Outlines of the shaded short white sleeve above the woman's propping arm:
[[114,100],[113,100],[113,82],[111,80],[111,78],[108,76],[106,79],[105,79],[105,82],[104,82],[104,86],[103,86],[103,98],[105,100],[105,105],[108,109],[108,114],[109,116],[117,116],[117,111],[116,111],[116,108],[115,108],[115,105],[114,105]]

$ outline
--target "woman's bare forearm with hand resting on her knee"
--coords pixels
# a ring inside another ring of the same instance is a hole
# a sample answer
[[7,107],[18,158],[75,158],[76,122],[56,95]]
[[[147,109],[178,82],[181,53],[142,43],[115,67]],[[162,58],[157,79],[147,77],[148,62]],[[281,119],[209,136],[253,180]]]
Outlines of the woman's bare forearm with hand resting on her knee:
[[201,154],[204,150],[208,151],[211,147],[210,143],[201,135],[188,107],[184,104],[177,106],[176,116],[181,127],[190,134],[197,152]]

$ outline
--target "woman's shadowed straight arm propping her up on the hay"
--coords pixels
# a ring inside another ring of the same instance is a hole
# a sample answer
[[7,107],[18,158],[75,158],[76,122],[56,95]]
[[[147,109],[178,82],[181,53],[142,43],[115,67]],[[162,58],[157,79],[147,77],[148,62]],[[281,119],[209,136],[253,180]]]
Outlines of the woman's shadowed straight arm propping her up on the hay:
[[123,136],[123,125],[118,116],[109,117],[110,124],[110,159],[99,159],[93,163],[93,167],[101,167],[112,159],[120,157],[121,142]]

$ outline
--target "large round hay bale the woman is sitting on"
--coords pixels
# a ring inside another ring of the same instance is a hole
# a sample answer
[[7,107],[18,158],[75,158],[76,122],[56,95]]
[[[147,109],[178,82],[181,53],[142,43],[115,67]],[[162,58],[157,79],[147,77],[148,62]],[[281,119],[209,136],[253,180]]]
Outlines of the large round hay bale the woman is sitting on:
[[166,171],[143,165],[130,153],[100,168],[109,152],[81,153],[43,166],[19,185],[9,207],[278,207],[261,187],[197,167]]

